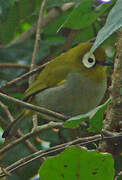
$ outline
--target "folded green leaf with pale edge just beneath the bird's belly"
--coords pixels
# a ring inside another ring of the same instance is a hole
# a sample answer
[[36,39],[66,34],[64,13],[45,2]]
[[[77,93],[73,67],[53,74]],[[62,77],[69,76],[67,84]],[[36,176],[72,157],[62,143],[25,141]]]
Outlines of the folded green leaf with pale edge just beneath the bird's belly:
[[95,133],[100,132],[102,130],[104,111],[109,103],[110,103],[110,99],[108,99],[104,104],[88,112],[87,114],[81,114],[68,119],[64,123],[64,127],[75,129],[79,127],[80,123],[89,120],[90,128],[88,130],[90,132],[95,132]]

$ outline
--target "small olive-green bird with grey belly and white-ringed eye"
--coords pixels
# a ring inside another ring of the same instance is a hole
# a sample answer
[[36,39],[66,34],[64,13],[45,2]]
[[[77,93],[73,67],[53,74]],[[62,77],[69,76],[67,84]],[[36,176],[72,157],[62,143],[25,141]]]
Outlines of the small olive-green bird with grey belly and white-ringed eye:
[[[91,47],[90,42],[80,43],[53,59],[26,90],[24,100],[32,97],[36,105],[70,117],[99,105],[106,91],[109,64],[102,47],[90,53]],[[12,124],[9,127],[3,137]]]

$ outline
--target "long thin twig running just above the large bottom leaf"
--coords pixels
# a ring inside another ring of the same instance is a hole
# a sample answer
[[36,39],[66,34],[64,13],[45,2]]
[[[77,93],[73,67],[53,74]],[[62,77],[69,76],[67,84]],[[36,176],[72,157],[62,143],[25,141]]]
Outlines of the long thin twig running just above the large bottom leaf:
[[[84,146],[86,144],[98,142],[98,141],[103,140],[103,139],[104,140],[110,140],[111,139],[113,141],[116,141],[117,139],[121,139],[121,138],[122,138],[121,134],[116,134],[116,136],[103,137],[103,138],[101,137],[101,135],[79,138],[79,139],[76,139],[74,141],[70,141],[68,143],[64,143],[61,145],[51,147],[51,148],[46,149],[46,150],[40,150],[36,153],[33,153],[33,154],[31,154],[25,158],[20,159],[19,161],[15,162],[14,164],[8,166],[6,168],[6,170],[11,173],[11,172],[19,169],[20,167],[24,167],[25,165],[29,164],[32,161],[35,161],[35,160],[40,159],[42,157],[50,156],[50,155],[52,155],[52,153],[55,153],[55,152],[60,153],[61,151],[63,151],[64,149],[66,149],[67,147],[72,146],[72,145]],[[3,174],[3,173],[0,174],[0,177],[4,177],[4,176],[5,176],[5,174]]]

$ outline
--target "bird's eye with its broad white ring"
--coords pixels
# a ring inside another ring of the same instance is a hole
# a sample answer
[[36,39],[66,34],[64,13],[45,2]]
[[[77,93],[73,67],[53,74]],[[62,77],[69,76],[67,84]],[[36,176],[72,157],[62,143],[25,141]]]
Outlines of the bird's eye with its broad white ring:
[[83,65],[84,65],[86,68],[92,68],[92,67],[96,64],[96,60],[95,60],[94,54],[91,54],[90,52],[87,52],[87,53],[83,56],[82,63],[83,63]]

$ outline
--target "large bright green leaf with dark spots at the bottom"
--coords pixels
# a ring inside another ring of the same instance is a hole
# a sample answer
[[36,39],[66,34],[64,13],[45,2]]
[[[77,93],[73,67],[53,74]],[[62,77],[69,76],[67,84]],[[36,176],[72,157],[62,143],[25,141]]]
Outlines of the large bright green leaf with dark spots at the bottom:
[[72,146],[48,157],[39,174],[40,180],[113,180],[114,160],[111,154]]

